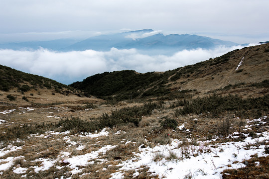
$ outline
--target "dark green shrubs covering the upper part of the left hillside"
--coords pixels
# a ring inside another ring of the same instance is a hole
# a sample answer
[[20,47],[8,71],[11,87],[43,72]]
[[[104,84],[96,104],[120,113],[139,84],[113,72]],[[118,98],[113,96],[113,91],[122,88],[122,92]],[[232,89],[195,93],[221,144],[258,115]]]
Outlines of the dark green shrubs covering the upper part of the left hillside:
[[40,77],[38,75],[23,73],[18,70],[0,65],[0,90],[9,91],[12,88],[17,88],[22,92],[37,88],[55,89],[56,92],[60,92],[60,90],[63,88],[70,90],[72,89],[54,80]]

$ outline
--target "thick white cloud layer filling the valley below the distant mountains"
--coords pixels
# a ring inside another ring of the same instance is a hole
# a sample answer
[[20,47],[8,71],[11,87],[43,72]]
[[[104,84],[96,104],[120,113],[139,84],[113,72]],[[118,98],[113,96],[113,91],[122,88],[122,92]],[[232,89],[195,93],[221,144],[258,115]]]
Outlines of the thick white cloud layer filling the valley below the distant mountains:
[[47,77],[64,84],[82,81],[86,77],[119,70],[135,70],[140,73],[167,71],[190,65],[193,62],[221,56],[242,46],[218,47],[214,50],[183,50],[172,56],[150,56],[136,49],[108,52],[94,50],[56,52],[47,49],[35,51],[0,50],[0,64],[26,73]]

